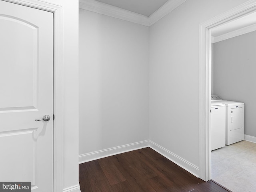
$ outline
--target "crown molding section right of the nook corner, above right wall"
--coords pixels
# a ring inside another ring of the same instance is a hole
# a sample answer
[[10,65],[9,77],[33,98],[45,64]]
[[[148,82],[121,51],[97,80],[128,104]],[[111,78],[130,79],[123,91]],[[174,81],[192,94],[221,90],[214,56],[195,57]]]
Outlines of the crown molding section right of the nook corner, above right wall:
[[186,2],[186,0],[169,0],[166,2],[162,7],[149,16],[149,26],[152,26],[154,23],[158,22],[158,20],[172,12],[172,10],[176,9],[184,2]]

